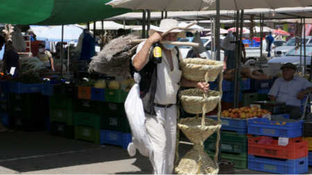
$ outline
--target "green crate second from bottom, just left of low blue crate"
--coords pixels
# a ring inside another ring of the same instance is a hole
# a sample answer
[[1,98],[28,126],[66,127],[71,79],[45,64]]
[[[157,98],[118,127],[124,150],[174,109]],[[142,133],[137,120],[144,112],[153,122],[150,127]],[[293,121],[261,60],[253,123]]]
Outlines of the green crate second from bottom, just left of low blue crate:
[[75,125],[83,125],[87,127],[94,127],[95,129],[100,129],[101,116],[94,113],[83,113],[77,112],[73,113]]

